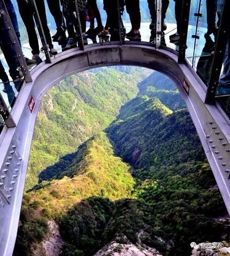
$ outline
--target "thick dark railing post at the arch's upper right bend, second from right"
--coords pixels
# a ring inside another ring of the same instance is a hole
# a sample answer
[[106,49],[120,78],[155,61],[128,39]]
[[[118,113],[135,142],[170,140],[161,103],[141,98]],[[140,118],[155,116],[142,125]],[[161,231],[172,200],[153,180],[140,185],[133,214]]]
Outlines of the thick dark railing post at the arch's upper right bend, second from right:
[[182,14],[181,14],[180,44],[179,44],[179,52],[178,52],[179,64],[183,64],[185,60],[185,54],[187,49],[190,6],[191,6],[191,0],[183,0]]

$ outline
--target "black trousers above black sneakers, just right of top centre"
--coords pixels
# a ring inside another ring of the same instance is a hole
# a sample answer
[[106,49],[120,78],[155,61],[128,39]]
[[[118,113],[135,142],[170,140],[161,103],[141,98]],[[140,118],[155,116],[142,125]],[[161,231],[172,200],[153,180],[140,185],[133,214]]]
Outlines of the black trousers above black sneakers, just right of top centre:
[[125,5],[132,30],[139,30],[141,26],[140,0],[125,0]]

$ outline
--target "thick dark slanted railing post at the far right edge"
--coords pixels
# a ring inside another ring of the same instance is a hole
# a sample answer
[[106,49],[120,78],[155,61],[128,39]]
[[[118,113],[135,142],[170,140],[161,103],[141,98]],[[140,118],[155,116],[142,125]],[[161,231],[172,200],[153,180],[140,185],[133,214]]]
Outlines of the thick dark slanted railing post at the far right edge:
[[207,94],[205,103],[214,104],[216,88],[219,84],[221,68],[223,65],[224,54],[226,50],[227,38],[229,33],[229,14],[230,14],[230,1],[224,0],[223,12],[221,14],[220,27],[216,39],[215,53],[212,61],[212,68],[210,78],[208,80]]

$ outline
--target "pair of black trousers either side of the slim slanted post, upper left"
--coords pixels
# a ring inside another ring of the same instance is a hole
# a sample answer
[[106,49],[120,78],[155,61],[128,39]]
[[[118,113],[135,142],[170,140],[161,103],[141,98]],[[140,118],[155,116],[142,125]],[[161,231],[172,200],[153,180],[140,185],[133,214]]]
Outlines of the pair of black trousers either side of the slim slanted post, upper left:
[[[38,36],[35,30],[35,23],[33,19],[33,10],[30,2],[26,2],[25,0],[17,0],[18,9],[22,20],[25,24],[26,31],[29,37],[30,47],[32,49],[32,54],[39,54],[39,44],[38,44]],[[42,28],[44,31],[44,35],[46,37],[46,42],[49,48],[53,48],[52,39],[50,36],[50,30],[47,25],[46,19],[46,8],[44,4],[44,0],[36,0],[36,6],[38,8],[39,17],[41,20]]]

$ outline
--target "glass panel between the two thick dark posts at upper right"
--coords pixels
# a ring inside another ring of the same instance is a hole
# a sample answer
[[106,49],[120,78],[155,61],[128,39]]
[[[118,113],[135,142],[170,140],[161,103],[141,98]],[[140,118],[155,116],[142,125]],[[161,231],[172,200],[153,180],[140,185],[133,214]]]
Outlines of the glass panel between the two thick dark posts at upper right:
[[186,56],[189,63],[207,83],[215,41],[218,33],[219,15],[217,0],[192,1],[189,15],[189,29]]

